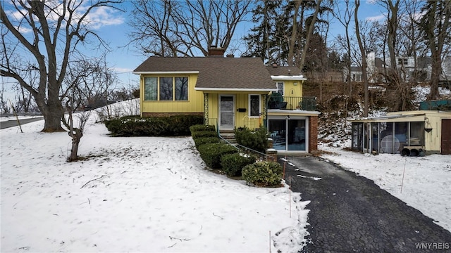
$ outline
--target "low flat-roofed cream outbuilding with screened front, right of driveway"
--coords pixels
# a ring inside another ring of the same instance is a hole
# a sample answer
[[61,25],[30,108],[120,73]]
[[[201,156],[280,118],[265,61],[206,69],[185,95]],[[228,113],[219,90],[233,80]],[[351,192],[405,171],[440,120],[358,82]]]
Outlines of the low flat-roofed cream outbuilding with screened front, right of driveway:
[[451,112],[388,112],[382,117],[351,119],[352,150],[366,153],[451,155]]

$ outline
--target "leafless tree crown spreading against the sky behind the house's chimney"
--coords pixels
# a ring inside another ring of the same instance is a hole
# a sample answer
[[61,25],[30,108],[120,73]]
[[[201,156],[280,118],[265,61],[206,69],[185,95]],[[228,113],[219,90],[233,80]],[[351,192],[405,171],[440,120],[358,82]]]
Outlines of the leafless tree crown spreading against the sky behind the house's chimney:
[[251,1],[133,1],[130,38],[154,56],[208,56],[210,46],[227,49]]

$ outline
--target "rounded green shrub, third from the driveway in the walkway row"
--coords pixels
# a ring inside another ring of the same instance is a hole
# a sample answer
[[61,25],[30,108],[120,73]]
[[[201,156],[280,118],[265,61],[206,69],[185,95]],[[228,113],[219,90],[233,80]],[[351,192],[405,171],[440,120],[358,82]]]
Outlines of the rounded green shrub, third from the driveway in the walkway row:
[[238,150],[225,143],[207,143],[199,145],[200,157],[204,160],[206,166],[211,169],[221,169],[221,157],[227,154],[237,153]]

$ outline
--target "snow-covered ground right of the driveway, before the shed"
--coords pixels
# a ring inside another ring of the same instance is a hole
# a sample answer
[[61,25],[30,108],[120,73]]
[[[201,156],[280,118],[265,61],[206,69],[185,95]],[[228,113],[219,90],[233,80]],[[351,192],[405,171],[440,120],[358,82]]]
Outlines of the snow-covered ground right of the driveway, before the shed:
[[320,145],[321,157],[371,179],[391,195],[451,231],[451,155],[370,155]]

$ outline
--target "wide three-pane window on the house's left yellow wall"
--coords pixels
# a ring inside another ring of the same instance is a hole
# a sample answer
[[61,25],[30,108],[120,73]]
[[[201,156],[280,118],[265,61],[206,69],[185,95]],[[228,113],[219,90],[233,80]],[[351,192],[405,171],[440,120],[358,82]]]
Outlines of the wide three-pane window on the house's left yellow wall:
[[144,100],[188,100],[188,77],[144,77]]

